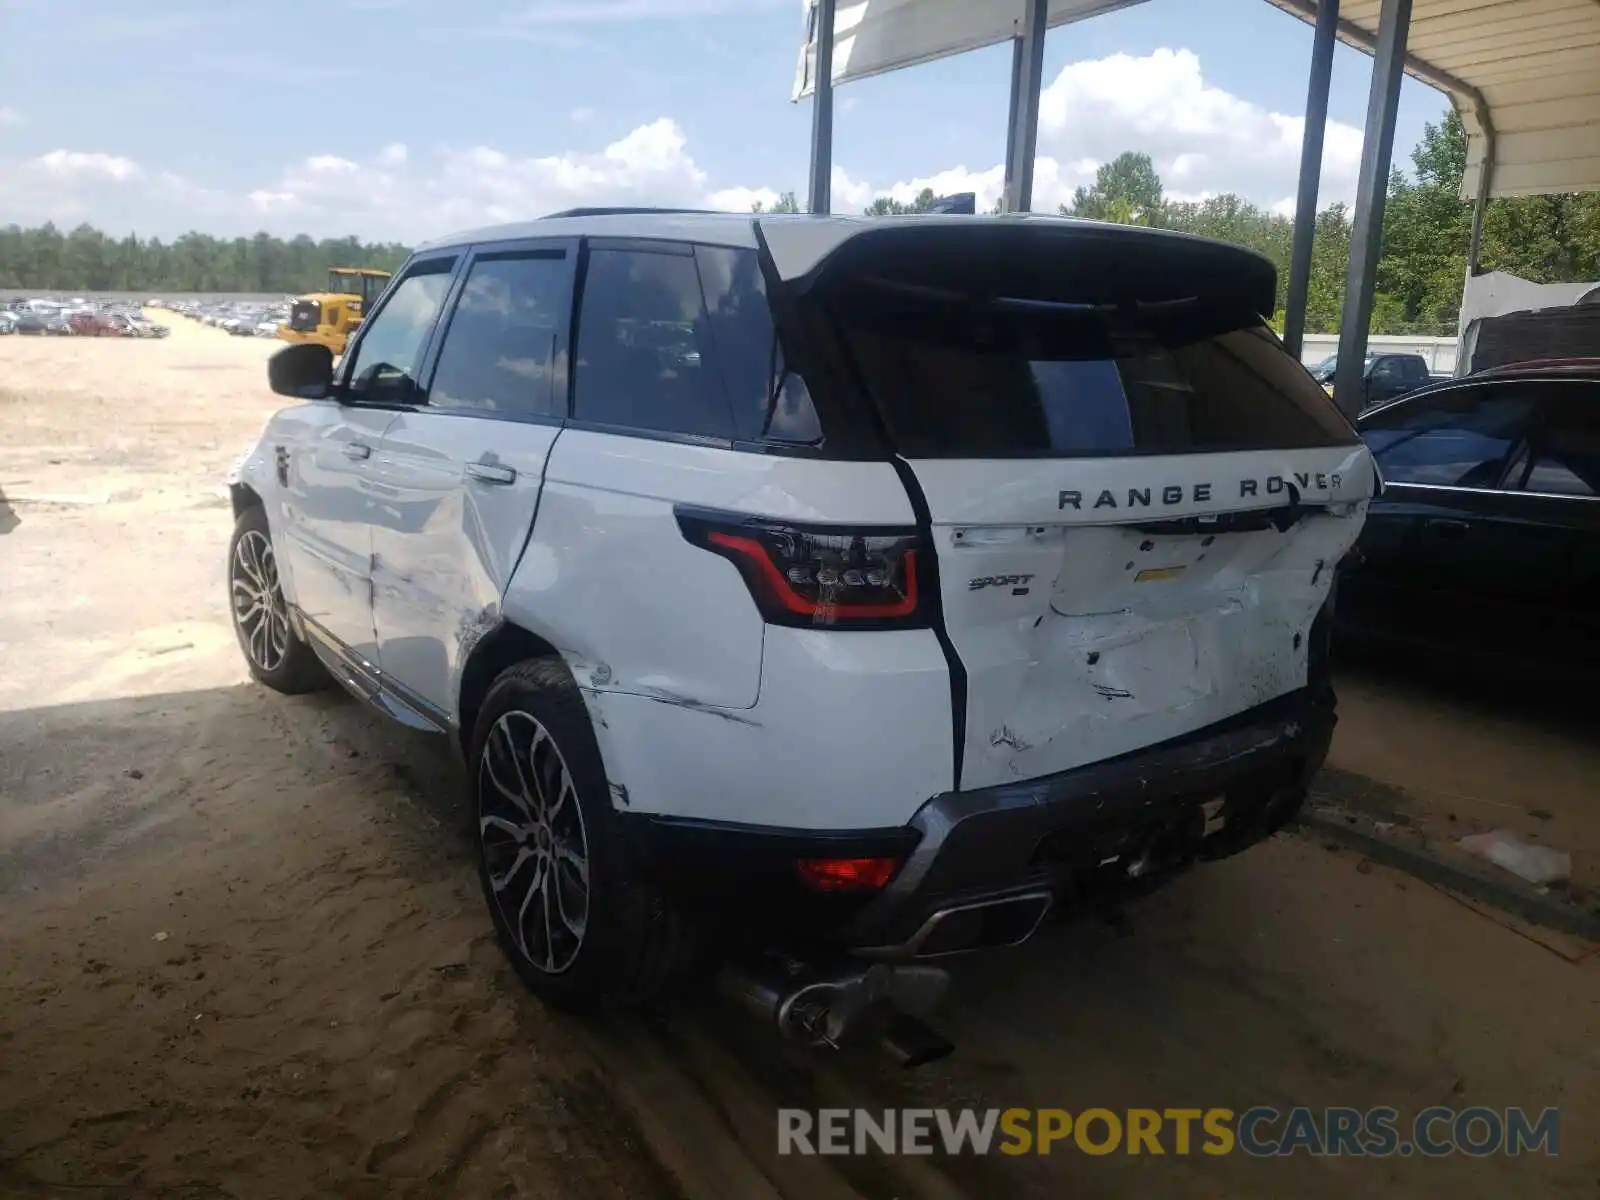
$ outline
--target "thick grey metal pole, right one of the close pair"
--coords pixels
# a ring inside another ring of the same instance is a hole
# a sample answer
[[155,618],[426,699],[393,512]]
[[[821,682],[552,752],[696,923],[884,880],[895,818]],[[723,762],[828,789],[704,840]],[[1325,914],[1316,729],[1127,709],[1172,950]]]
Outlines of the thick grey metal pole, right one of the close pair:
[[1344,317],[1339,320],[1339,366],[1333,381],[1333,398],[1347,416],[1362,411],[1365,395],[1366,326],[1373,320],[1378,258],[1384,243],[1384,200],[1410,27],[1411,0],[1382,0],[1373,86],[1366,98],[1366,130],[1362,134],[1362,174],[1355,186],[1355,221],[1350,226],[1350,270],[1344,283]]

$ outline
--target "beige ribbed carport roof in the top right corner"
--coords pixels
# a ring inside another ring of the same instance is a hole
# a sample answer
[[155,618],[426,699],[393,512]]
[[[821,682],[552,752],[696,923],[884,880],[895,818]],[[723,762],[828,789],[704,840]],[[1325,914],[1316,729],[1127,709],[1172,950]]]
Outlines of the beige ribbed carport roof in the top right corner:
[[[1315,0],[1269,0],[1304,21]],[[1381,0],[1344,0],[1339,37],[1370,50]],[[1477,195],[1494,126],[1490,195],[1600,190],[1600,0],[1413,0],[1406,69],[1451,94],[1467,126],[1461,197]],[[1477,93],[1477,94],[1474,94]]]

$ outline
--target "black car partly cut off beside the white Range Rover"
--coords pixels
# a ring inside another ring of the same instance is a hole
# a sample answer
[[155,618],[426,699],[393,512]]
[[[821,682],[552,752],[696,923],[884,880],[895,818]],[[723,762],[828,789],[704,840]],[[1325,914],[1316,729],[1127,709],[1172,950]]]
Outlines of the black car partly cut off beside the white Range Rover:
[[1357,427],[1384,488],[1341,570],[1341,642],[1595,677],[1600,370],[1498,368],[1373,408]]

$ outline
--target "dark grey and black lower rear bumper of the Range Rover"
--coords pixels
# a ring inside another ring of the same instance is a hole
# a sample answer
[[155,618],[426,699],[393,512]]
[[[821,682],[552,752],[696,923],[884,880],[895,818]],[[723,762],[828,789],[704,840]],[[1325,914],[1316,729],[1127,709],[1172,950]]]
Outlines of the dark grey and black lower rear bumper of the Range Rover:
[[[1016,944],[1053,909],[1141,891],[1280,829],[1333,738],[1326,685],[1133,754],[928,800],[875,830],[786,830],[629,814],[640,875],[763,931],[918,958]],[[902,858],[878,894],[819,896],[802,858]]]

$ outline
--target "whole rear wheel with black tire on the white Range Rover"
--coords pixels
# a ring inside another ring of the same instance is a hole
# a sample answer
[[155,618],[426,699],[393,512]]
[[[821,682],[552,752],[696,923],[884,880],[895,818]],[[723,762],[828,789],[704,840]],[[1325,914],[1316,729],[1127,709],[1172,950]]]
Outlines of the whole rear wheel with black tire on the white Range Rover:
[[664,998],[696,965],[685,917],[629,877],[600,747],[566,664],[506,669],[469,760],[478,880],[501,950],[542,1000]]

